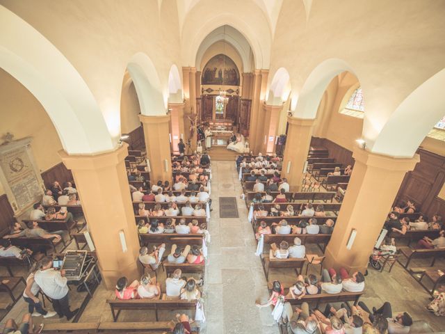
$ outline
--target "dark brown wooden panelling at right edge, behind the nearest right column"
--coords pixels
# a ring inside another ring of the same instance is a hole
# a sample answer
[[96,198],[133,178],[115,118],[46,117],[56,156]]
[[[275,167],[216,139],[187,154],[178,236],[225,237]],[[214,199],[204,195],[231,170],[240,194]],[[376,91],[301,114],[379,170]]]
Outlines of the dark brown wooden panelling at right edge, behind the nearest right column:
[[420,162],[406,173],[394,205],[411,200],[428,218],[435,214],[445,216],[445,201],[437,197],[445,182],[445,157],[422,149],[417,153]]

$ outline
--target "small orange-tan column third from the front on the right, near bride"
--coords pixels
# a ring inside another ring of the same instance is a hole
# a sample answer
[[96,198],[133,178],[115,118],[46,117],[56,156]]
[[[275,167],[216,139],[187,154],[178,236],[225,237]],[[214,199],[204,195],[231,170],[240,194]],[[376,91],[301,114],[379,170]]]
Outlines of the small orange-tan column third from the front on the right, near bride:
[[[263,125],[261,132],[261,145],[259,152],[263,154],[273,153],[275,151],[275,136],[277,136],[278,122],[280,122],[280,111],[283,106],[269,106],[263,104],[260,112],[260,124]],[[272,138],[273,137],[273,138]],[[272,141],[270,141],[272,139]]]

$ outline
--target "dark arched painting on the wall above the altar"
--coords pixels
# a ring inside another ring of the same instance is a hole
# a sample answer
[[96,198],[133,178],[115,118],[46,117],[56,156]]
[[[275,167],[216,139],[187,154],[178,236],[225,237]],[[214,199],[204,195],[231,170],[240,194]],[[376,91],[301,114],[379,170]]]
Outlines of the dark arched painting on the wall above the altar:
[[239,71],[224,54],[213,56],[202,71],[202,85],[239,86]]

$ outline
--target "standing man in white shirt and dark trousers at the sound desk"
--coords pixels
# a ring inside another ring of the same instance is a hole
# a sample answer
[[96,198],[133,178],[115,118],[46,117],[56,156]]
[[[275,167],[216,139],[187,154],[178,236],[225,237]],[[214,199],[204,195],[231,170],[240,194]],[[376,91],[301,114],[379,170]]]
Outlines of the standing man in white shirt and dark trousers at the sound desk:
[[70,289],[67,286],[67,278],[64,276],[65,271],[54,270],[53,258],[47,256],[42,260],[42,268],[35,273],[34,280],[42,289],[42,292],[51,298],[53,308],[58,316],[60,318],[65,316],[70,321],[79,312],[79,308],[74,311],[70,310],[70,302],[68,300]]

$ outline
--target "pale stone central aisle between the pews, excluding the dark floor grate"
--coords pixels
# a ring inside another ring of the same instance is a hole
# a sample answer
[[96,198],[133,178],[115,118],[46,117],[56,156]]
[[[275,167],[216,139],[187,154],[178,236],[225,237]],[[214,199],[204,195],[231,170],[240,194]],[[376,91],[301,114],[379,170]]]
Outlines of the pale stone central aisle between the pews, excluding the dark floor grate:
[[[209,231],[209,265],[204,291],[207,294],[207,324],[202,333],[279,333],[270,308],[257,308],[255,301],[268,298],[266,278],[248,212],[241,195],[241,182],[234,161],[212,161]],[[219,197],[236,197],[239,218],[219,218]]]

